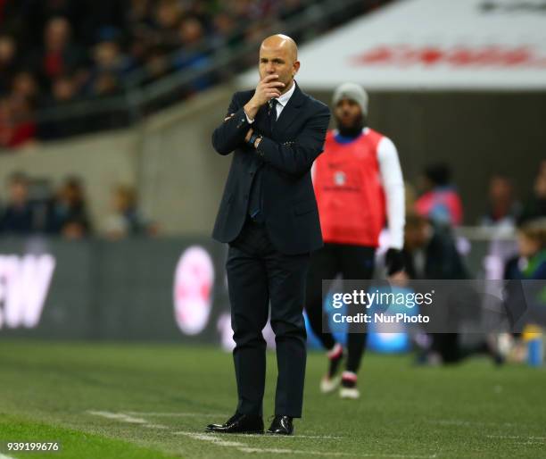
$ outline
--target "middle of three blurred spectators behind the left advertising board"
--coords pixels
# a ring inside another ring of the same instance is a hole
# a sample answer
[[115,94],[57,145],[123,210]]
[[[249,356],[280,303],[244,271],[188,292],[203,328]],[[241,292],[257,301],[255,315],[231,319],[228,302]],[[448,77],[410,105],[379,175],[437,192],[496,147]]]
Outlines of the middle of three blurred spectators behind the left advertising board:
[[49,232],[64,238],[86,238],[91,232],[83,186],[70,177],[59,188],[50,212]]

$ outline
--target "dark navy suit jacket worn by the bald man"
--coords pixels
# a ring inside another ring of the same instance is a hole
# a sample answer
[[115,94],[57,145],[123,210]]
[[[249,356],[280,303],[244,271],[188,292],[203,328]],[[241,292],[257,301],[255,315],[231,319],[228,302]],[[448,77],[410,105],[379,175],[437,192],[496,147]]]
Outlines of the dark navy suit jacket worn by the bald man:
[[[271,130],[267,104],[261,106],[252,124],[246,120],[243,107],[253,95],[254,90],[235,93],[227,109],[227,116],[233,116],[212,134],[212,145],[219,154],[234,152],[212,237],[229,243],[239,235],[252,179],[260,168],[271,243],[286,255],[311,252],[322,246],[322,236],[310,168],[322,153],[330,111],[296,84]],[[263,136],[257,149],[244,142],[251,127]]]

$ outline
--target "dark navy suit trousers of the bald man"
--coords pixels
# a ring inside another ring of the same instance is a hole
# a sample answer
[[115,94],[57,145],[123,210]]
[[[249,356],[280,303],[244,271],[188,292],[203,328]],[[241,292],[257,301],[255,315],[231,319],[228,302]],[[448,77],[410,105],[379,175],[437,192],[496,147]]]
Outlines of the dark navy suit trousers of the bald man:
[[266,342],[262,330],[271,305],[271,328],[277,346],[275,414],[302,416],[303,382],[307,358],[303,321],[305,281],[310,255],[285,255],[269,240],[265,225],[247,220],[229,244],[227,283],[237,412],[262,415],[266,376]]

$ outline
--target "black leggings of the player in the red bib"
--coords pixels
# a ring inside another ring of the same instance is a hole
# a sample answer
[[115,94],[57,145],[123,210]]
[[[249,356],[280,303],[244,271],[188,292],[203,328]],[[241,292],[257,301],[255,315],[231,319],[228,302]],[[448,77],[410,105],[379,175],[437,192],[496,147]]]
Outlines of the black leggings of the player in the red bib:
[[[310,327],[317,335],[322,346],[328,350],[335,346],[335,339],[324,321],[322,280],[335,279],[338,274],[347,280],[370,280],[374,273],[376,248],[368,246],[350,246],[344,244],[325,244],[311,255],[310,269],[307,276],[306,311]],[[329,288],[329,285],[327,286]],[[347,371],[357,372],[366,347],[365,333],[349,333],[347,336]]]

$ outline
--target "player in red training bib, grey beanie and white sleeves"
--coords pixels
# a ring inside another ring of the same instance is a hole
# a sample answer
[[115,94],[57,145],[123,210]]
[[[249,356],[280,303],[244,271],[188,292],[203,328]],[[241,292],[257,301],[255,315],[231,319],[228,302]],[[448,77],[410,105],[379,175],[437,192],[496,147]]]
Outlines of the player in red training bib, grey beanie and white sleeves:
[[332,392],[341,384],[342,398],[359,398],[358,371],[367,334],[350,329],[344,352],[323,321],[328,289],[324,282],[338,275],[371,280],[385,222],[386,274],[391,277],[403,271],[404,181],[393,141],[368,127],[368,93],[360,85],[343,83],[335,88],[332,103],[336,129],[327,132],[324,152],[312,171],[325,244],[310,257],[305,310],[311,330],[327,350],[328,370],[320,381],[321,392]]

